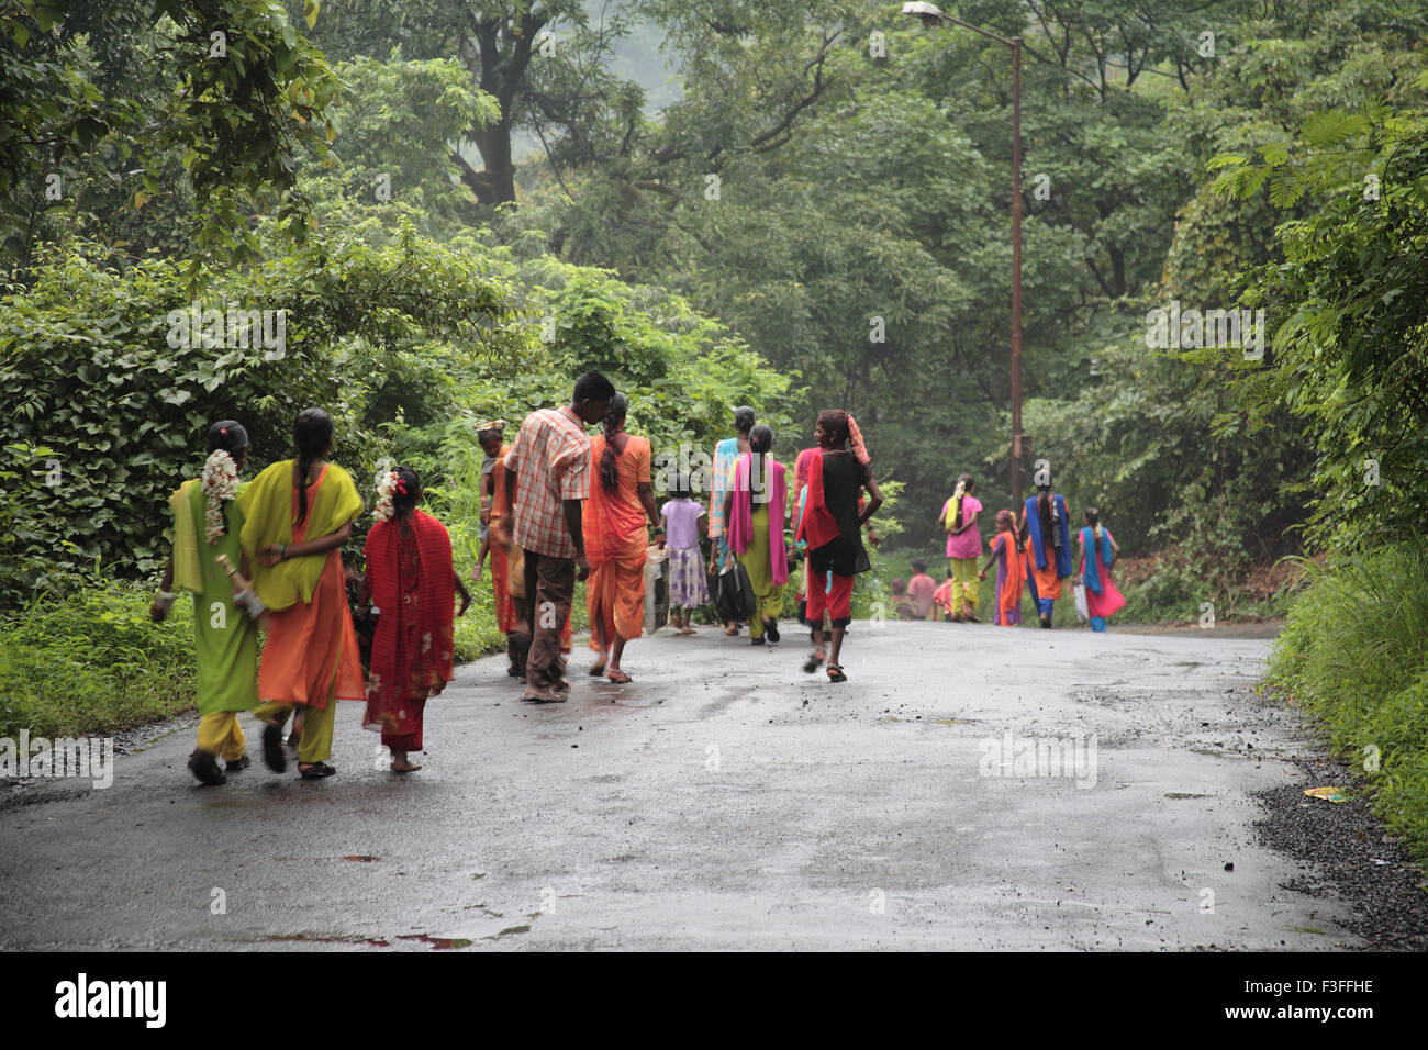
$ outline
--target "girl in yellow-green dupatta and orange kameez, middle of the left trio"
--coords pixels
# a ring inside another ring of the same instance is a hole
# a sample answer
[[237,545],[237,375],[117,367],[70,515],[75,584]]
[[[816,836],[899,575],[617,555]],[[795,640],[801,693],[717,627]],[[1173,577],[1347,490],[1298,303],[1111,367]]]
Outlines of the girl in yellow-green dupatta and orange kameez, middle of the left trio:
[[263,726],[263,759],[287,769],[283,723],[304,713],[297,769],[304,780],[328,777],[337,700],[366,700],[357,633],[343,573],[343,544],[361,514],[351,476],[327,457],[333,420],[304,409],[293,424],[294,456],[274,463],[238,496],[244,514],[243,553],[253,586],[270,610],[258,664],[254,711]]

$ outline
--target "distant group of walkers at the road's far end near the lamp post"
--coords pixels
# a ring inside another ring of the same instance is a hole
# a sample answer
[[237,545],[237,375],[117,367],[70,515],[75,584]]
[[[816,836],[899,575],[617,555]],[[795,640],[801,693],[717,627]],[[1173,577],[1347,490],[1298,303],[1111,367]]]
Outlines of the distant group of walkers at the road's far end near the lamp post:
[[924,559],[912,560],[911,580],[892,581],[892,600],[904,620],[951,620],[980,623],[980,583],[997,567],[991,621],[1000,627],[1021,624],[1021,591],[1025,586],[1037,619],[1051,627],[1055,601],[1062,596],[1062,581],[1074,577],[1085,590],[1085,617],[1091,630],[1104,631],[1105,621],[1125,604],[1111,579],[1120,546],[1111,530],[1101,524],[1100,511],[1087,507],[1084,526],[1077,533],[1078,554],[1072,571],[1070,511],[1065,497],[1055,493],[1050,477],[1037,486],[1021,511],[997,511],[997,533],[988,541],[985,561],[978,566],[981,534],[977,526],[982,510],[972,494],[971,474],[957,479],[952,496],[938,513],[947,533],[947,581],[938,586],[927,574]]

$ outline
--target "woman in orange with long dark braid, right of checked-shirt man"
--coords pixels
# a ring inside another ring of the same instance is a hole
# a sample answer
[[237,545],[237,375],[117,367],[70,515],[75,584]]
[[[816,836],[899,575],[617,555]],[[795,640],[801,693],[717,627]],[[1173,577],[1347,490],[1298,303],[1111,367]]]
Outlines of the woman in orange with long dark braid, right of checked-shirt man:
[[[625,643],[644,630],[644,561],[650,537],[645,521],[660,524],[650,483],[650,440],[624,431],[628,401],[624,394],[610,400],[604,434],[591,439],[591,463],[598,479],[590,486],[584,510],[585,607],[590,611],[590,647],[600,659],[590,669],[625,683],[620,669]],[[613,647],[613,651],[611,651]]]

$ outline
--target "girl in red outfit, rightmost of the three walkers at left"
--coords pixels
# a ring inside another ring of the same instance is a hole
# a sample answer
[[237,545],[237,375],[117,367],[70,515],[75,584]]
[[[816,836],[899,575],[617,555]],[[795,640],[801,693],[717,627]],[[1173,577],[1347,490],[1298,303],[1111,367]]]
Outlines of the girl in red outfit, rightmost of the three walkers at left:
[[427,697],[441,693],[453,677],[454,594],[461,593],[461,613],[471,596],[451,567],[446,526],[417,510],[417,473],[397,467],[378,496],[378,521],[367,533],[367,587],[381,611],[371,643],[363,726],[381,731],[393,773],[413,773],[421,767],[407,754],[423,750]]

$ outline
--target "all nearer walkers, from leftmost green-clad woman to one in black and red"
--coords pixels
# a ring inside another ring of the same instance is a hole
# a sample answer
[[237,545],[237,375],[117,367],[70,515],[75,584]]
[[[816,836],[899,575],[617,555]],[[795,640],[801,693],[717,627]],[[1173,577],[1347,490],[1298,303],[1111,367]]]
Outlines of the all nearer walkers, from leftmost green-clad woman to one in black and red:
[[[533,411],[508,444],[503,420],[477,427],[483,510],[473,577],[480,579],[490,556],[508,673],[524,683],[523,699],[561,703],[570,694],[577,580],[587,581],[595,653],[588,674],[631,681],[621,663],[643,633],[651,547],[663,547],[668,559],[675,626],[693,633],[690,614],[708,601],[703,534],[715,547],[711,569],[727,569],[734,559],[753,584],[757,644],[780,640],[790,563],[807,551],[800,586],[807,604],[800,607],[814,649],[804,670],[827,661],[830,680],[845,681],[838,660],[853,576],[868,569],[861,527],[883,501],[853,417],[835,410],[818,417],[817,446],[798,459],[794,507],[787,471],[771,454],[773,431],[754,421],[751,409],[738,409],[738,433],[715,457],[705,529],[688,477],[663,509],[655,506],[650,441],[625,431],[627,413],[627,399],[610,380],[588,373],[568,404]],[[588,437],[588,426],[601,433]],[[341,549],[364,503],[351,476],[328,461],[331,417],[321,409],[301,411],[293,439],[291,459],[243,484],[247,430],[237,420],[216,423],[200,477],[170,497],[173,553],[150,613],[163,620],[176,590],[194,596],[200,723],[188,767],[206,784],[251,764],[241,711],[257,717],[271,770],[287,767],[283,731],[291,717],[287,746],[297,749],[300,776],[331,776],[340,700],[366,703],[363,724],[381,734],[391,770],[411,773],[420,769],[410,756],[423,750],[426,701],[453,679],[454,617],[471,596],[454,571],[446,527],[417,506],[421,479],[408,466],[380,474],[366,571],[358,573],[344,566]],[[357,623],[376,621],[370,650],[354,626],[351,591]],[[737,634],[740,627],[728,629]]]

